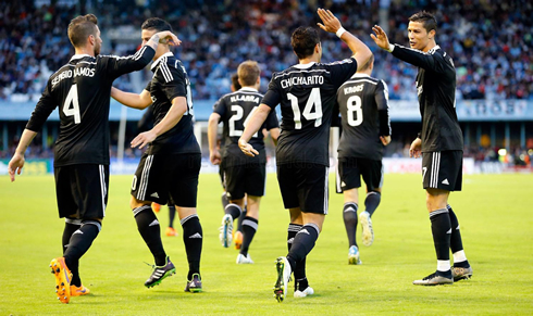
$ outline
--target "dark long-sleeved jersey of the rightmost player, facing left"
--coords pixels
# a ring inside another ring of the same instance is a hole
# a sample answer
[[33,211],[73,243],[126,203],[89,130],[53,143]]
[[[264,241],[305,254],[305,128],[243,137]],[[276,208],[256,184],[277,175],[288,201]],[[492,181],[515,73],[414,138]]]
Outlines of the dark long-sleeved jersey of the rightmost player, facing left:
[[456,68],[439,46],[427,52],[394,46],[393,55],[419,67],[417,91],[422,115],[422,152],[462,150],[456,113]]

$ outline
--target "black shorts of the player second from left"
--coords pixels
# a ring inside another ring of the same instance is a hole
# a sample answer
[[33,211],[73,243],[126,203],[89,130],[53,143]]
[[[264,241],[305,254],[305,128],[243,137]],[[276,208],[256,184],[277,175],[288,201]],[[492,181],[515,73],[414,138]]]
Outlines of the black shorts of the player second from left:
[[132,184],[140,201],[196,207],[201,154],[142,154]]

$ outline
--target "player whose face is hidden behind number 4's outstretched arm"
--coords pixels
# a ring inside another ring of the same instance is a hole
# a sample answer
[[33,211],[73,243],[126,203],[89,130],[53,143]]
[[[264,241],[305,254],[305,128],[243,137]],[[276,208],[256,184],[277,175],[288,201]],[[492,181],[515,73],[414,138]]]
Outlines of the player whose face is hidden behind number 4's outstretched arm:
[[[172,27],[164,20],[148,18],[141,26],[142,42],[161,30],[172,31]],[[151,202],[169,203],[176,205],[183,227],[189,265],[185,291],[200,292],[203,233],[196,211],[196,198],[201,152],[193,131],[190,83],[185,67],[168,45],[158,48],[153,60],[153,77],[140,94],[124,92],[114,87],[111,91],[111,97],[116,101],[134,109],[146,109],[151,104],[156,121],[153,128],[132,140],[133,148],[148,146],[134,176],[129,203],[140,236],[156,262],[145,286],[157,286],[175,273],[174,264],[163,249],[161,228],[151,208]]]

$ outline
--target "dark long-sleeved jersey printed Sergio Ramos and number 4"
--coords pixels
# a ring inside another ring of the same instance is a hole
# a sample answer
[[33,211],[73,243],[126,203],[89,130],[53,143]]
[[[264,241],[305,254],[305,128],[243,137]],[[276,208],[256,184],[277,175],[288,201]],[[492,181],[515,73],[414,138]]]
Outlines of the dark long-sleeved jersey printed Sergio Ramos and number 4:
[[109,165],[109,106],[113,80],[142,69],[153,54],[148,46],[127,58],[77,54],[48,79],[26,128],[39,131],[59,106],[54,166]]

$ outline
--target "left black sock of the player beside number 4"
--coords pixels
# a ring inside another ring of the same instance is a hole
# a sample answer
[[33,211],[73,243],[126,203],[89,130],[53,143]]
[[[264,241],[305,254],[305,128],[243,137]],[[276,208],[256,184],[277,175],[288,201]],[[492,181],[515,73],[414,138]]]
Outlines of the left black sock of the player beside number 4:
[[166,264],[166,253],[161,241],[161,227],[158,217],[156,217],[150,205],[135,207],[133,213],[137,223],[137,229],[152,253],[156,265],[164,266]]

